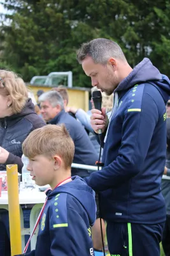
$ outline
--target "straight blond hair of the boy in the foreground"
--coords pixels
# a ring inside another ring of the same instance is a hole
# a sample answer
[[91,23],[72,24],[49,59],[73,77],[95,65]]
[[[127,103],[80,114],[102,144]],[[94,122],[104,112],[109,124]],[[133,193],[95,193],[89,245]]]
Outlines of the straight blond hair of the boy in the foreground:
[[23,154],[32,159],[38,155],[52,158],[58,155],[65,168],[71,168],[74,157],[74,142],[64,125],[45,125],[32,131],[22,144]]

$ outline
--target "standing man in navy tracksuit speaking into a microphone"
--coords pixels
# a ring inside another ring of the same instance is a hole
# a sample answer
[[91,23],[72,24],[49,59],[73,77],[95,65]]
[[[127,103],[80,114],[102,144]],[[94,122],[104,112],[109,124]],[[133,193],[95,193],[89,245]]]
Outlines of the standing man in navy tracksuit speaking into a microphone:
[[148,58],[132,69],[119,45],[104,38],[81,45],[77,58],[92,86],[115,95],[110,120],[104,108],[92,109],[92,128],[102,129],[104,167],[87,180],[101,195],[110,253],[159,256],[170,81]]

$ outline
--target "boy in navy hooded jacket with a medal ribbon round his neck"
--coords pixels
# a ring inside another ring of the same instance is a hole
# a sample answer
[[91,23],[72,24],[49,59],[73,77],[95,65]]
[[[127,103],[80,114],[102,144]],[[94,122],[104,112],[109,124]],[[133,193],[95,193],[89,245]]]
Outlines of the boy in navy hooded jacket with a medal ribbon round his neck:
[[32,179],[52,188],[41,212],[36,249],[23,255],[94,255],[90,230],[96,219],[94,191],[80,177],[71,177],[74,143],[66,128],[36,129],[22,147]]

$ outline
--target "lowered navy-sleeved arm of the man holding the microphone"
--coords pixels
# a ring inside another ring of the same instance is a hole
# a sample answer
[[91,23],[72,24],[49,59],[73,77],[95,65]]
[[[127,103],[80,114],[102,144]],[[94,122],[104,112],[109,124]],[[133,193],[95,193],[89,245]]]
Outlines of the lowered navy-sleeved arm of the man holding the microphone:
[[[128,109],[131,109],[131,106]],[[102,170],[93,172],[87,180],[88,185],[95,191],[103,191],[116,188],[137,175],[145,161],[158,120],[157,105],[150,95],[145,94],[141,111],[127,111],[125,114],[122,143],[117,158]],[[113,137],[107,140],[113,140]]]

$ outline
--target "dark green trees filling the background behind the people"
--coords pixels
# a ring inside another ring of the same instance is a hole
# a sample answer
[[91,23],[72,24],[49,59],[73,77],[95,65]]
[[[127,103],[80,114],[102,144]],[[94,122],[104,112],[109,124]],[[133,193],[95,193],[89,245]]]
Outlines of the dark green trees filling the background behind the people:
[[134,67],[150,58],[170,76],[170,2],[163,0],[5,0],[0,26],[0,65],[22,75],[73,72],[73,86],[90,87],[76,49],[108,38]]

